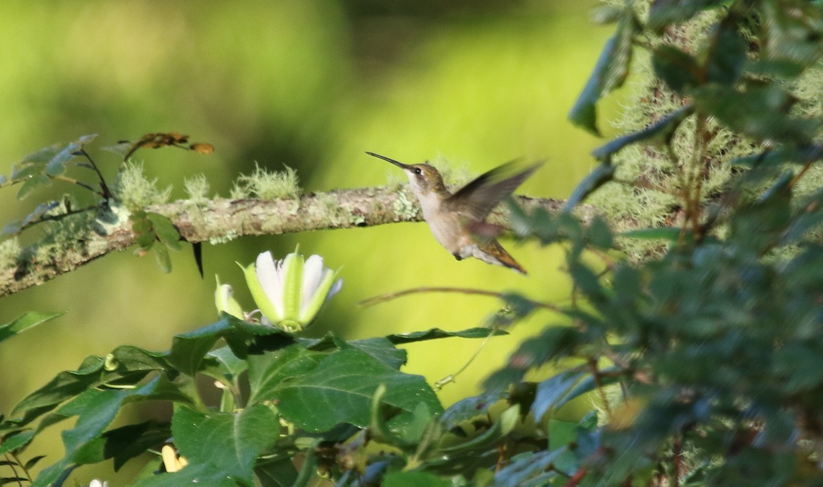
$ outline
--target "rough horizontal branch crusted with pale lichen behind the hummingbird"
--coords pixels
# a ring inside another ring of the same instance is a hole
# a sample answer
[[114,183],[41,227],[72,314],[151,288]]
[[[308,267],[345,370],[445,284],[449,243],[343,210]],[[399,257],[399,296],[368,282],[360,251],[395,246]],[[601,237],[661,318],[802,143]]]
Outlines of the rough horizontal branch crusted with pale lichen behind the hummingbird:
[[[527,210],[542,206],[547,211],[559,211],[562,206],[558,200],[516,199]],[[221,243],[244,235],[289,234],[422,219],[414,197],[398,191],[396,186],[319,192],[282,200],[180,200],[145,209],[170,218],[181,238],[191,243]],[[592,213],[591,208],[582,208],[579,215],[588,220]],[[489,220],[507,226],[503,210],[495,211]],[[63,238],[49,246],[47,252],[42,248],[27,249],[17,262],[0,268],[0,296],[42,284],[107,253],[124,250],[137,238],[128,216],[98,226],[96,231],[87,229],[77,236]]]

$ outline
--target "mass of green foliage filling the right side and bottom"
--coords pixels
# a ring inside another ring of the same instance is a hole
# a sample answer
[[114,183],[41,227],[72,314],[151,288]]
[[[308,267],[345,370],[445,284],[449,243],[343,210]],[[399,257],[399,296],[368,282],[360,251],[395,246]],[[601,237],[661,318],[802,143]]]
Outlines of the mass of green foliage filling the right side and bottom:
[[[23,459],[31,440],[77,416],[63,431],[65,456],[32,485],[60,485],[98,461],[119,468],[163,443],[188,466],[164,472],[153,461],[135,485],[823,485],[823,190],[808,183],[823,159],[823,117],[797,96],[820,72],[823,10],[807,0],[629,1],[599,18],[616,34],[571,120],[597,132],[597,102],[625,82],[638,50],[657,80],[649,103],[669,108],[594,151],[600,164],[565,211],[511,207],[520,238],[565,246],[574,299],[486,392],[444,409],[424,378],[400,370],[397,346],[490,336],[550,305],[505,294],[491,330],[358,341],[224,314],[169,351],[121,346],[24,398],[0,422],[0,452],[16,472],[6,480],[29,482],[40,460]],[[700,29],[686,39],[692,23]],[[620,177],[621,156],[637,147],[667,161],[659,189],[677,214],[621,233],[602,217],[581,224],[571,210],[593,193],[648,186]],[[732,160],[718,158],[730,148]],[[16,182],[46,183],[61,153]],[[163,221],[138,221],[152,243],[170,243]],[[630,239],[662,250],[613,257]],[[551,377],[527,382],[546,365]],[[216,381],[219,405],[202,398],[198,377]],[[556,420],[589,392],[590,414]],[[137,401],[170,402],[174,414],[109,429]],[[533,427],[518,428],[527,419]]]

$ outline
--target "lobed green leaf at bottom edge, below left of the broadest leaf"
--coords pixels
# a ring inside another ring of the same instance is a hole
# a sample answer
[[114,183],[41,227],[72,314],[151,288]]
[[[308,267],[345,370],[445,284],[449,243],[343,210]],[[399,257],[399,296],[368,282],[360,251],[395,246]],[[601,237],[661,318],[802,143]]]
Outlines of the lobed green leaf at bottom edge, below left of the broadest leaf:
[[[228,478],[253,485],[258,455],[277,441],[280,424],[267,406],[235,413],[208,413],[181,406],[171,421],[174,444],[192,464],[207,464]],[[186,466],[183,471],[187,470]]]

